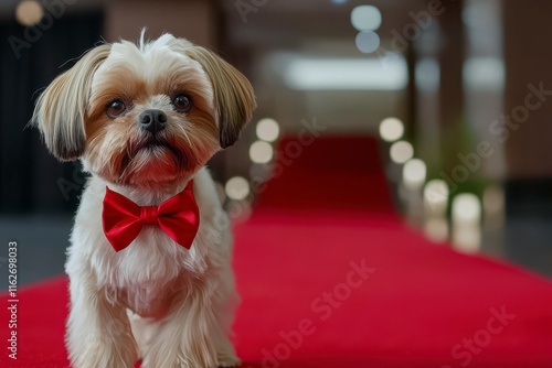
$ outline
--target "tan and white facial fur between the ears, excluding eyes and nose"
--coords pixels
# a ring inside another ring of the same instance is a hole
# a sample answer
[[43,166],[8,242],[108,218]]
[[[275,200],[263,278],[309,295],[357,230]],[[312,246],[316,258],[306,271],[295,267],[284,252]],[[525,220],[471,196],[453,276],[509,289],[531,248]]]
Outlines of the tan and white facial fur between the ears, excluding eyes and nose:
[[[220,128],[213,83],[200,63],[184,53],[191,44],[171,35],[135,45],[112,46],[92,83],[85,119],[85,167],[117,184],[173,185],[190,176],[220,149]],[[191,98],[192,108],[179,112],[178,95]],[[108,117],[106,106],[119,99],[128,107]],[[156,134],[141,129],[140,115],[162,111],[164,129]]]

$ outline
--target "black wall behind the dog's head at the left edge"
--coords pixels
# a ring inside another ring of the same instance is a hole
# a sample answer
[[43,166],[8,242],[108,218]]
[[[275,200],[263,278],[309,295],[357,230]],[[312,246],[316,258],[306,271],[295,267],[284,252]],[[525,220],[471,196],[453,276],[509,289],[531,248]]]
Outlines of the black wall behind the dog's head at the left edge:
[[0,214],[73,212],[83,187],[78,164],[59,163],[25,126],[40,90],[100,41],[104,18],[51,19],[0,23]]

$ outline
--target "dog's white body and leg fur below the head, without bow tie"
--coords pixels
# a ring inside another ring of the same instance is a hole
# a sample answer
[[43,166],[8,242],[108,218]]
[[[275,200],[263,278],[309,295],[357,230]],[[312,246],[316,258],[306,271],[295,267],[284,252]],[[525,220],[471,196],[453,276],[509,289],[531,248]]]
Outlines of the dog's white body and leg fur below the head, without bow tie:
[[128,248],[115,252],[100,223],[106,185],[138,205],[171,196],[96,176],[88,182],[66,264],[72,301],[67,344],[74,366],[134,367],[139,356],[146,368],[237,365],[227,338],[237,303],[231,236],[208,171],[194,176],[201,219],[190,250],[147,226]]

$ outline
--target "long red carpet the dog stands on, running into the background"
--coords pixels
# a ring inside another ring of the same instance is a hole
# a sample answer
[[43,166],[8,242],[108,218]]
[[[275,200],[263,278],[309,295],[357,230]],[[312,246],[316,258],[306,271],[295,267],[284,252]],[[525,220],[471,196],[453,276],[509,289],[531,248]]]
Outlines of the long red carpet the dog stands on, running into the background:
[[[406,227],[373,140],[302,150],[235,227],[243,367],[552,367],[551,282]],[[63,278],[20,291],[18,361],[3,348],[0,367],[66,367],[66,304]]]

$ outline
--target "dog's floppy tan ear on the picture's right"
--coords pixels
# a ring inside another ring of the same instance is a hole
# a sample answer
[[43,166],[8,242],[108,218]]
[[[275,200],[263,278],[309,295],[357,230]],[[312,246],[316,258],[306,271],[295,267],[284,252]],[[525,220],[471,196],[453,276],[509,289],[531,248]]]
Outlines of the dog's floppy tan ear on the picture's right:
[[192,46],[185,50],[185,54],[200,63],[211,79],[221,147],[231,147],[256,108],[253,87],[242,73],[206,48]]

